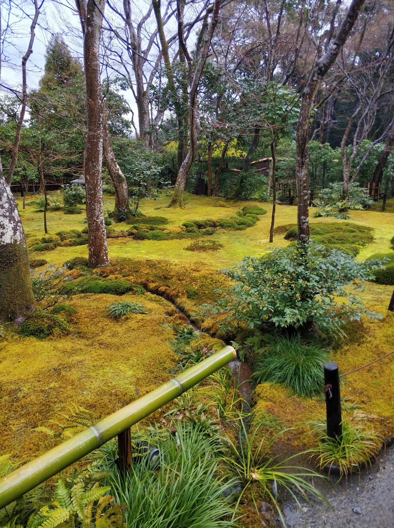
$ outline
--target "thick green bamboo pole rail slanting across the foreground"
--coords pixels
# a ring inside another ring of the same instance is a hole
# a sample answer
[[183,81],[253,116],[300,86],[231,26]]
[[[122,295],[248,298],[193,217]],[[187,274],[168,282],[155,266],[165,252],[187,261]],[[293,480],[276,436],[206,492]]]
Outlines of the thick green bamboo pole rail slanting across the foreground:
[[232,346],[222,348],[154,391],[9,473],[0,479],[0,509],[160,409],[235,357],[237,354]]

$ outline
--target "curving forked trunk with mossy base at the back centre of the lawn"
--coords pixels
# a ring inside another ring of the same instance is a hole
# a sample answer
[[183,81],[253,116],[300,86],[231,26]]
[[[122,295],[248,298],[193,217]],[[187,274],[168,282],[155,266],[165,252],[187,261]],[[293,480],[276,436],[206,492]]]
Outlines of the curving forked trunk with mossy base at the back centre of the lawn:
[[201,55],[199,61],[196,65],[195,71],[193,73],[193,60],[186,48],[183,35],[183,16],[182,10],[180,8],[180,0],[177,1],[178,6],[178,34],[179,40],[182,46],[182,50],[185,54],[185,57],[189,65],[189,77],[190,77],[190,94],[189,94],[189,131],[190,131],[190,149],[186,155],[181,168],[179,169],[178,176],[176,177],[174,194],[172,200],[169,204],[169,207],[180,206],[183,208],[183,191],[185,188],[186,178],[189,175],[190,168],[194,162],[194,159],[199,150],[198,134],[200,132],[200,119],[199,119],[199,110],[198,110],[198,87],[200,83],[200,78],[206,57],[208,56],[209,48],[211,45],[211,40],[213,32],[215,30],[216,24],[218,23],[219,18],[219,9],[220,9],[220,0],[215,0],[213,7],[213,13],[211,22],[209,24],[208,30],[206,31],[206,37],[204,45],[201,48]]

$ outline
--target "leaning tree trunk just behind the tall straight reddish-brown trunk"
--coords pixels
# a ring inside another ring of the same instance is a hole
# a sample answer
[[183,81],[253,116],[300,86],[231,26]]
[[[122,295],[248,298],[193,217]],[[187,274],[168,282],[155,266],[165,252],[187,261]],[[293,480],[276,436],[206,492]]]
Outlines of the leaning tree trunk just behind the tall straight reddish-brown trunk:
[[111,135],[108,128],[108,123],[104,117],[104,137],[103,147],[105,163],[110,173],[112,183],[115,187],[115,210],[114,219],[117,222],[122,222],[129,214],[129,195],[127,193],[127,182],[120,166],[116,162],[115,154],[112,149]]

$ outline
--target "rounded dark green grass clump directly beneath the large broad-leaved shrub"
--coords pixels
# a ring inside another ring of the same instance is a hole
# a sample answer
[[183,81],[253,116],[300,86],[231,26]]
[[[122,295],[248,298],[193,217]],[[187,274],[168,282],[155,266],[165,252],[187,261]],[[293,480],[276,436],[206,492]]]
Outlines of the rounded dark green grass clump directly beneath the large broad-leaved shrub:
[[256,360],[254,378],[256,383],[281,383],[300,396],[310,396],[321,393],[328,361],[327,351],[303,344],[299,336],[277,337]]

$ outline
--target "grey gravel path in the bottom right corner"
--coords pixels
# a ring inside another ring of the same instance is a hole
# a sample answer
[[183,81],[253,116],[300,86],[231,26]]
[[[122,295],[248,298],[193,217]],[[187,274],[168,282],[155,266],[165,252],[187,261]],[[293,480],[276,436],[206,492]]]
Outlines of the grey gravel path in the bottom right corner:
[[[315,483],[317,484],[317,483]],[[394,528],[394,446],[381,452],[369,472],[352,475],[336,486],[319,485],[332,507],[282,504],[287,526],[297,528]],[[282,525],[278,523],[278,526]]]

